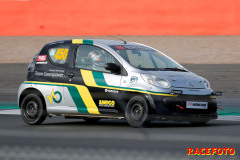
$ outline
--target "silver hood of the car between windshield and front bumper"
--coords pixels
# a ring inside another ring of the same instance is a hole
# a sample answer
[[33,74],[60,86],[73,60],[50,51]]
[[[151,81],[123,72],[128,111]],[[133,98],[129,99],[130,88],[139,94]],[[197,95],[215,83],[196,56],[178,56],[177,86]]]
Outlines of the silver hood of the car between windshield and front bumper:
[[143,71],[142,74],[152,74],[167,79],[172,87],[203,89],[206,88],[204,78],[192,73],[181,71]]

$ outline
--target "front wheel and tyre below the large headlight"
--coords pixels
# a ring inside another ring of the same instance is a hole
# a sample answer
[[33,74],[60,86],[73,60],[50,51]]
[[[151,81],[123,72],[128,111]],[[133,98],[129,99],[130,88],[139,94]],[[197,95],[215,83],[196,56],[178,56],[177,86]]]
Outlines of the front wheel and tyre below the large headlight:
[[125,110],[125,118],[129,125],[133,127],[147,127],[148,122],[148,104],[140,96],[131,98]]

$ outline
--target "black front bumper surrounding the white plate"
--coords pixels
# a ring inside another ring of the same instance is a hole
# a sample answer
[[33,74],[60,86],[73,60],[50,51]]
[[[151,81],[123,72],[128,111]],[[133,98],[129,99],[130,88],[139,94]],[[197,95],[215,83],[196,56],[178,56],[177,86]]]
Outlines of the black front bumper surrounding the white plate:
[[[212,96],[178,95],[177,97],[152,96],[157,119],[193,120],[216,119],[217,102]],[[207,102],[207,109],[186,108],[187,101]]]

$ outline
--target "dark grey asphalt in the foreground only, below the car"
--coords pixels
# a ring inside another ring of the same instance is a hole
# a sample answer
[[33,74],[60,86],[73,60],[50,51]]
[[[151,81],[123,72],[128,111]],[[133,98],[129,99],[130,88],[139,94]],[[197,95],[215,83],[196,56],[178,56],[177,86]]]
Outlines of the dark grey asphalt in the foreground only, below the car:
[[[211,121],[206,126],[187,122],[153,122],[133,128],[125,121],[48,118],[39,126],[21,116],[1,115],[0,159],[238,159],[240,123]],[[188,156],[187,148],[234,148],[236,153]]]

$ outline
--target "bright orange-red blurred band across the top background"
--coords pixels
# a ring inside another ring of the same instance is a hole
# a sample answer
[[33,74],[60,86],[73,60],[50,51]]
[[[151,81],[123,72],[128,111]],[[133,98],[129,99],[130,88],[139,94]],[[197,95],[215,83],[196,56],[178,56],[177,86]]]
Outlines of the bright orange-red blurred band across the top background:
[[1,0],[0,35],[240,35],[239,0]]

